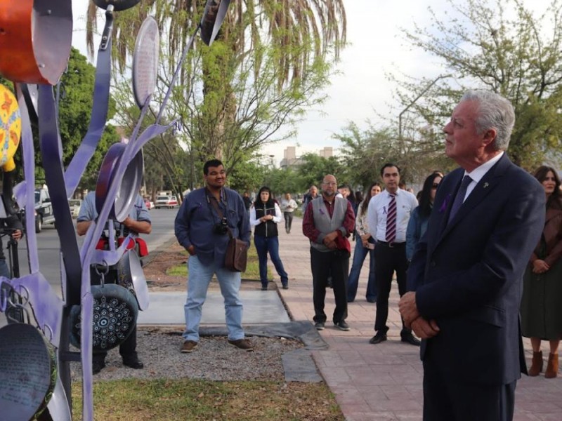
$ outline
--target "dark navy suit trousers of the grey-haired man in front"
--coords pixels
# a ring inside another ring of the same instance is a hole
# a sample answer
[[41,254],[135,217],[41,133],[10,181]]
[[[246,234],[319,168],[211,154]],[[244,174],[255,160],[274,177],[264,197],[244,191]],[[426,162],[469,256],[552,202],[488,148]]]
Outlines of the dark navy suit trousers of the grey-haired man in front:
[[424,421],[513,420],[517,381],[507,385],[462,382],[429,354],[424,359]]

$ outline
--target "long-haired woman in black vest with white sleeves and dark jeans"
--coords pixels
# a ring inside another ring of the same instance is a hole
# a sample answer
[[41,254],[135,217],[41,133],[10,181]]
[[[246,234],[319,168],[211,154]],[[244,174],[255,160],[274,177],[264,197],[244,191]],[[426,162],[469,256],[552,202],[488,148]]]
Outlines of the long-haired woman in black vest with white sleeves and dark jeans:
[[289,276],[279,257],[279,234],[277,224],[283,220],[281,209],[269,187],[259,189],[254,205],[250,208],[250,225],[254,229],[254,246],[258,252],[261,290],[268,289],[268,253],[281,278],[283,289],[289,288]]

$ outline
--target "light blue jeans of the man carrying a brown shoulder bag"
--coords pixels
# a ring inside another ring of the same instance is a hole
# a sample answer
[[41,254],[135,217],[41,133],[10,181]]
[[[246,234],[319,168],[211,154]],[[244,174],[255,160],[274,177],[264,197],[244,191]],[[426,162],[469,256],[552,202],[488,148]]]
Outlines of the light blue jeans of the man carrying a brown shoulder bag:
[[221,294],[224,298],[228,339],[244,339],[244,329],[242,329],[242,301],[238,296],[241,281],[240,272],[230,272],[225,267],[216,267],[214,263],[205,266],[197,258],[197,255],[190,256],[188,268],[188,300],[183,306],[185,312],[185,332],[183,332],[183,340],[199,341],[201,313],[205,299],[207,298],[209,282],[213,274],[216,274],[218,285],[221,286]]

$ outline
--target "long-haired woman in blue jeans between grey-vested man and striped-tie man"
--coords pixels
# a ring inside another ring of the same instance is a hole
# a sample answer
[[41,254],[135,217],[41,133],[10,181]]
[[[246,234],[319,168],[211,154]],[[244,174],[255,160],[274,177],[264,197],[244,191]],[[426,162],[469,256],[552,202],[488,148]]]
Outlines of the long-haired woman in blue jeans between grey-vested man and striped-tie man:
[[370,255],[369,263],[369,280],[367,281],[367,293],[365,298],[368,302],[377,302],[377,286],[374,283],[374,239],[369,232],[367,224],[367,208],[372,196],[376,196],[381,192],[381,185],[375,182],[367,190],[365,199],[359,204],[357,209],[357,217],[355,218],[355,251],[353,252],[353,263],[347,279],[347,302],[353,302],[357,295],[357,287],[359,285],[359,275],[361,267],[367,253]]

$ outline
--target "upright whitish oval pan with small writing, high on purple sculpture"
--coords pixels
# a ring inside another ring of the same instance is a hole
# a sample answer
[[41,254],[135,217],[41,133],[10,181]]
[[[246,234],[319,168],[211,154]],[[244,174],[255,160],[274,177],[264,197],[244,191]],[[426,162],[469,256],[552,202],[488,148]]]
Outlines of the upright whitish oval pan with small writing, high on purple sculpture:
[[159,51],[158,24],[148,16],[138,31],[133,53],[133,93],[138,107],[145,105],[156,88]]

